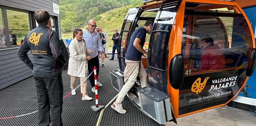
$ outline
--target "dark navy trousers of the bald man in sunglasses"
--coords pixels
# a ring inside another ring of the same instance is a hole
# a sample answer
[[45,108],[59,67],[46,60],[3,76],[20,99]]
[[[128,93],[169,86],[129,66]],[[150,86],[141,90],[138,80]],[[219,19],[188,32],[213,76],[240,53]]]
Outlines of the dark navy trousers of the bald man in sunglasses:
[[[98,76],[99,76],[99,58],[98,58],[98,56],[88,60],[88,71],[90,73],[93,71],[94,66],[96,67],[96,73],[97,73],[97,79],[98,79]],[[94,73],[91,74],[89,79],[90,79],[90,83],[91,83],[91,88],[95,87]]]

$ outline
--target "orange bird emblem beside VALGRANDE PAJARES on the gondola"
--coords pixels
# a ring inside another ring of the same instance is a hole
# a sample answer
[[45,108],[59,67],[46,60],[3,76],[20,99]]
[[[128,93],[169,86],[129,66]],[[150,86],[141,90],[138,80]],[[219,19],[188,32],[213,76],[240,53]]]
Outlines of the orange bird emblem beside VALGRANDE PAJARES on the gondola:
[[209,79],[209,77],[206,77],[206,78],[204,79],[203,83],[201,83],[201,78],[197,78],[197,79],[195,80],[195,82],[193,83],[192,87],[191,87],[191,91],[192,91],[192,92],[195,92],[196,95],[197,95],[198,93],[201,93],[201,91],[204,89],[205,84],[206,84],[206,82],[207,82],[208,79]]

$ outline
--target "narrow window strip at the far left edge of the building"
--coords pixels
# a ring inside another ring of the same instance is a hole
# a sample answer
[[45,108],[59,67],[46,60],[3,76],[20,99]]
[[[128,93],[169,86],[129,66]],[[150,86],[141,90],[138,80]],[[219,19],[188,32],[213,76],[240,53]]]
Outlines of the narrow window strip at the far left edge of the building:
[[4,28],[3,9],[0,8],[0,47],[7,46]]

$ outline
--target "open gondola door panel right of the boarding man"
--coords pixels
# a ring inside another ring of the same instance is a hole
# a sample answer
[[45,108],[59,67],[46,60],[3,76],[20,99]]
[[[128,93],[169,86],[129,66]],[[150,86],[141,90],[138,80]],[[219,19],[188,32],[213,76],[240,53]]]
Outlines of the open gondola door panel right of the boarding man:
[[181,1],[163,1],[154,22],[148,51],[149,85],[167,93],[169,37]]

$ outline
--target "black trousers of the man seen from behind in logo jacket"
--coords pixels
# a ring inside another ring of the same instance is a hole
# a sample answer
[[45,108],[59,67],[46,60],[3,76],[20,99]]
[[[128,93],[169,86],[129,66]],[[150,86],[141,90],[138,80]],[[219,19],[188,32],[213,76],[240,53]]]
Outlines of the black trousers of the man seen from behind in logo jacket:
[[[63,82],[62,76],[55,77],[35,77],[38,99],[38,124],[49,126],[63,126],[62,105],[63,105]],[[51,118],[50,118],[51,108]]]

